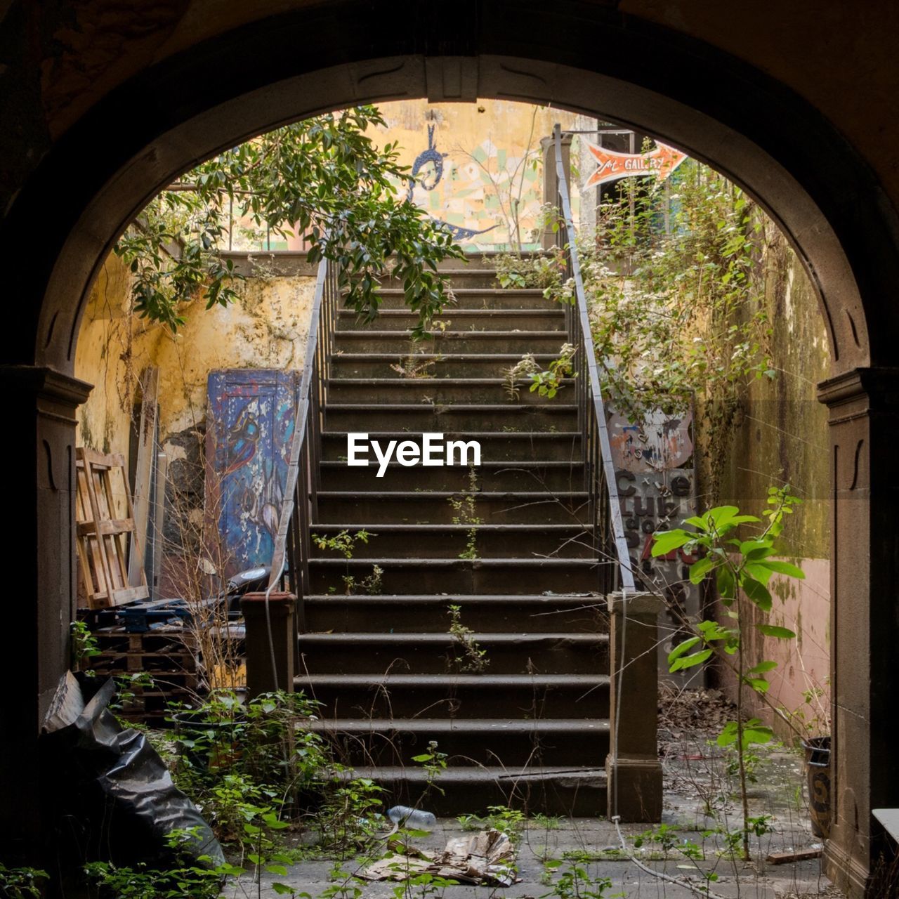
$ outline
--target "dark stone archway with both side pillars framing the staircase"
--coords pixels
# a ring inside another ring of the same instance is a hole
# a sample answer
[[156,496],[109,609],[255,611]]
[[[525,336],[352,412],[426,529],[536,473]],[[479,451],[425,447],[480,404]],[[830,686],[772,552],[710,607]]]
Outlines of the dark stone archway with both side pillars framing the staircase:
[[[33,745],[67,666],[74,415],[88,390],[71,372],[81,309],[112,242],[174,175],[282,122],[354,102],[490,96],[601,115],[682,147],[752,193],[806,263],[834,359],[834,377],[822,387],[832,408],[835,501],[837,821],[829,871],[860,891],[875,850],[870,808],[899,805],[899,774],[886,752],[889,659],[899,632],[891,595],[899,541],[889,528],[895,488],[886,465],[899,436],[899,381],[883,368],[899,334],[899,315],[884,302],[899,282],[895,209],[810,104],[682,34],[575,3],[476,3],[470,23],[417,13],[414,4],[408,16],[387,19],[376,5],[283,13],[147,67],[69,129],[14,200],[4,225],[13,258],[28,258],[47,209],[58,227],[31,254],[33,264],[12,274],[10,295],[28,316],[4,343],[12,414],[27,423],[24,449],[7,450],[7,460],[37,489],[27,521],[8,535],[21,542],[22,528],[30,530],[34,552],[29,545],[32,583],[8,624],[31,666],[21,696],[4,709],[4,732],[15,735],[0,760],[7,832],[31,842],[40,832]],[[246,59],[253,67],[234,65]]]

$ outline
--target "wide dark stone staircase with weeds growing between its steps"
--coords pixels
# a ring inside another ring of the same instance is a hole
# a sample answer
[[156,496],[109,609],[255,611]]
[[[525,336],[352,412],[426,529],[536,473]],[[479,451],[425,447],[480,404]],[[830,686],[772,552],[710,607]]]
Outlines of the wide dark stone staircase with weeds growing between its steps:
[[[425,775],[411,759],[435,740],[449,769],[443,795],[427,800],[434,811],[511,802],[605,814],[609,638],[581,523],[574,390],[547,401],[524,386],[510,400],[503,387],[523,352],[556,358],[564,312],[539,290],[497,289],[485,263],[449,275],[457,305],[432,341],[409,342],[400,289],[385,290],[373,325],[340,315],[311,530],[377,536],[349,560],[316,551],[296,686],[324,703],[316,727],[390,801],[420,797]],[[472,475],[392,462],[378,478],[377,467],[346,465],[348,431],[477,440],[482,464]],[[344,578],[359,585],[374,565],[380,593],[343,595]],[[484,670],[450,635],[450,605],[485,651]]]

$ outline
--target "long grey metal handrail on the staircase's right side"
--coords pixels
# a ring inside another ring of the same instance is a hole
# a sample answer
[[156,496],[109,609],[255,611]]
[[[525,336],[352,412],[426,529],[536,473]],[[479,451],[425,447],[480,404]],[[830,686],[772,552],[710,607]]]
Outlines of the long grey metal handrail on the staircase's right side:
[[[577,394],[578,425],[582,435],[584,481],[589,496],[589,511],[593,525],[593,539],[597,548],[605,556],[617,560],[617,586],[625,591],[634,591],[634,573],[631,567],[628,541],[621,520],[618,480],[612,463],[609,428],[606,423],[606,409],[602,401],[600,377],[596,365],[596,351],[590,330],[590,316],[587,312],[587,298],[583,289],[581,263],[577,254],[574,234],[574,219],[571,214],[571,200],[562,157],[562,129],[556,124],[553,129],[556,143],[556,194],[558,207],[565,221],[565,231],[556,232],[556,244],[565,254],[568,274],[574,280],[574,306],[565,308],[565,323],[568,340],[576,348],[574,360],[576,377],[574,389]],[[615,584],[606,584],[601,592],[615,589]]]

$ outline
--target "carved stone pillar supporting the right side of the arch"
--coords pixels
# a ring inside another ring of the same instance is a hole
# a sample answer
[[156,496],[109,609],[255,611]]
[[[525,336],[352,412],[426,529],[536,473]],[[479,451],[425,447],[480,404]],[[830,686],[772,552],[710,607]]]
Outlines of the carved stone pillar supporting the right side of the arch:
[[819,385],[818,398],[830,410],[832,476],[832,828],[823,867],[862,896],[885,846],[871,809],[899,807],[899,369],[849,371]]

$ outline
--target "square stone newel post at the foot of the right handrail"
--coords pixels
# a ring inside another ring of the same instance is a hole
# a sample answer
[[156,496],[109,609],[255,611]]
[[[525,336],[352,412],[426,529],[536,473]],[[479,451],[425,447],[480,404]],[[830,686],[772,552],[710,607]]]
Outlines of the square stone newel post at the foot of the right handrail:
[[[606,759],[609,816],[662,818],[658,730],[658,617],[654,593],[610,593],[610,753]],[[618,752],[616,753],[616,748]],[[617,755],[617,765],[616,765]],[[617,770],[616,770],[617,768]]]

